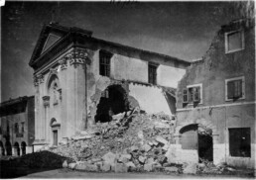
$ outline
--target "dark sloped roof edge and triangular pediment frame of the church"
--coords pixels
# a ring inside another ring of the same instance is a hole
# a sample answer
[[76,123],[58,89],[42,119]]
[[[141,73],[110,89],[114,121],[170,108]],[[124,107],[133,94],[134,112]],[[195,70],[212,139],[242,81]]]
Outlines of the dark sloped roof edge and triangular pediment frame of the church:
[[[56,41],[54,45],[43,51],[50,34],[56,35],[61,38],[60,40]],[[96,38],[92,38],[91,35],[92,32],[82,30],[76,27],[66,28],[53,23],[45,25],[40,34],[38,43],[33,51],[29,65],[32,66],[35,70],[40,68],[40,66],[51,60],[52,55],[62,53],[62,51],[64,51],[66,47],[69,47],[68,45],[82,45],[88,48],[91,47],[93,49],[111,49],[114,53],[120,53],[135,58],[139,56],[139,58],[144,60],[146,60],[149,56],[151,57],[151,59],[155,60],[158,58],[162,59],[163,62],[170,62],[171,60],[175,64],[175,66],[181,65],[182,68],[185,68],[191,64],[191,62],[179,59],[177,57],[143,50],[128,45],[120,45],[104,40],[99,40]]]

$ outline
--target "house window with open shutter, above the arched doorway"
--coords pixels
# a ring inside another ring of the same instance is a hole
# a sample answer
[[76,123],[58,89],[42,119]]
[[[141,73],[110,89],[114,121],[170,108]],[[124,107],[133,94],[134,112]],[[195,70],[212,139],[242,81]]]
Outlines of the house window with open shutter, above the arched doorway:
[[202,103],[201,98],[201,84],[187,86],[183,91],[184,103]]

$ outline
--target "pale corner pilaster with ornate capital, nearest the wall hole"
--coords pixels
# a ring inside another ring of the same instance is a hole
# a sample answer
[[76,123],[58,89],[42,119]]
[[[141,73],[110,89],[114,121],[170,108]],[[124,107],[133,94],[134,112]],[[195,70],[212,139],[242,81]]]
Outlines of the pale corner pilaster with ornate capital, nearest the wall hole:
[[74,134],[76,131],[84,130],[86,121],[86,59],[88,54],[84,49],[74,48],[66,58],[69,61],[67,66],[68,72],[68,89],[67,89],[67,121],[72,130],[68,135]]

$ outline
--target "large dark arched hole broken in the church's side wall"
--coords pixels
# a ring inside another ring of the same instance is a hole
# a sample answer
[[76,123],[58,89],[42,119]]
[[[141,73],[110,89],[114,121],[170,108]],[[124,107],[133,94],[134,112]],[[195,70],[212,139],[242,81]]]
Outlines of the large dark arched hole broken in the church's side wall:
[[121,85],[111,85],[104,92],[97,105],[95,122],[105,123],[112,120],[112,116],[127,110],[128,100]]

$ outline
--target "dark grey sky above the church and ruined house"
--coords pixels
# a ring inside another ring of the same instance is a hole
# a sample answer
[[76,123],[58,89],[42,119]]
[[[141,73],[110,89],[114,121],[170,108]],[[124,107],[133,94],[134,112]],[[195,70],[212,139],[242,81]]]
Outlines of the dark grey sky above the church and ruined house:
[[[239,3],[239,2],[238,2]],[[1,7],[0,101],[34,95],[29,61],[44,24],[191,61],[208,49],[221,25],[241,18],[237,2],[6,2]]]

